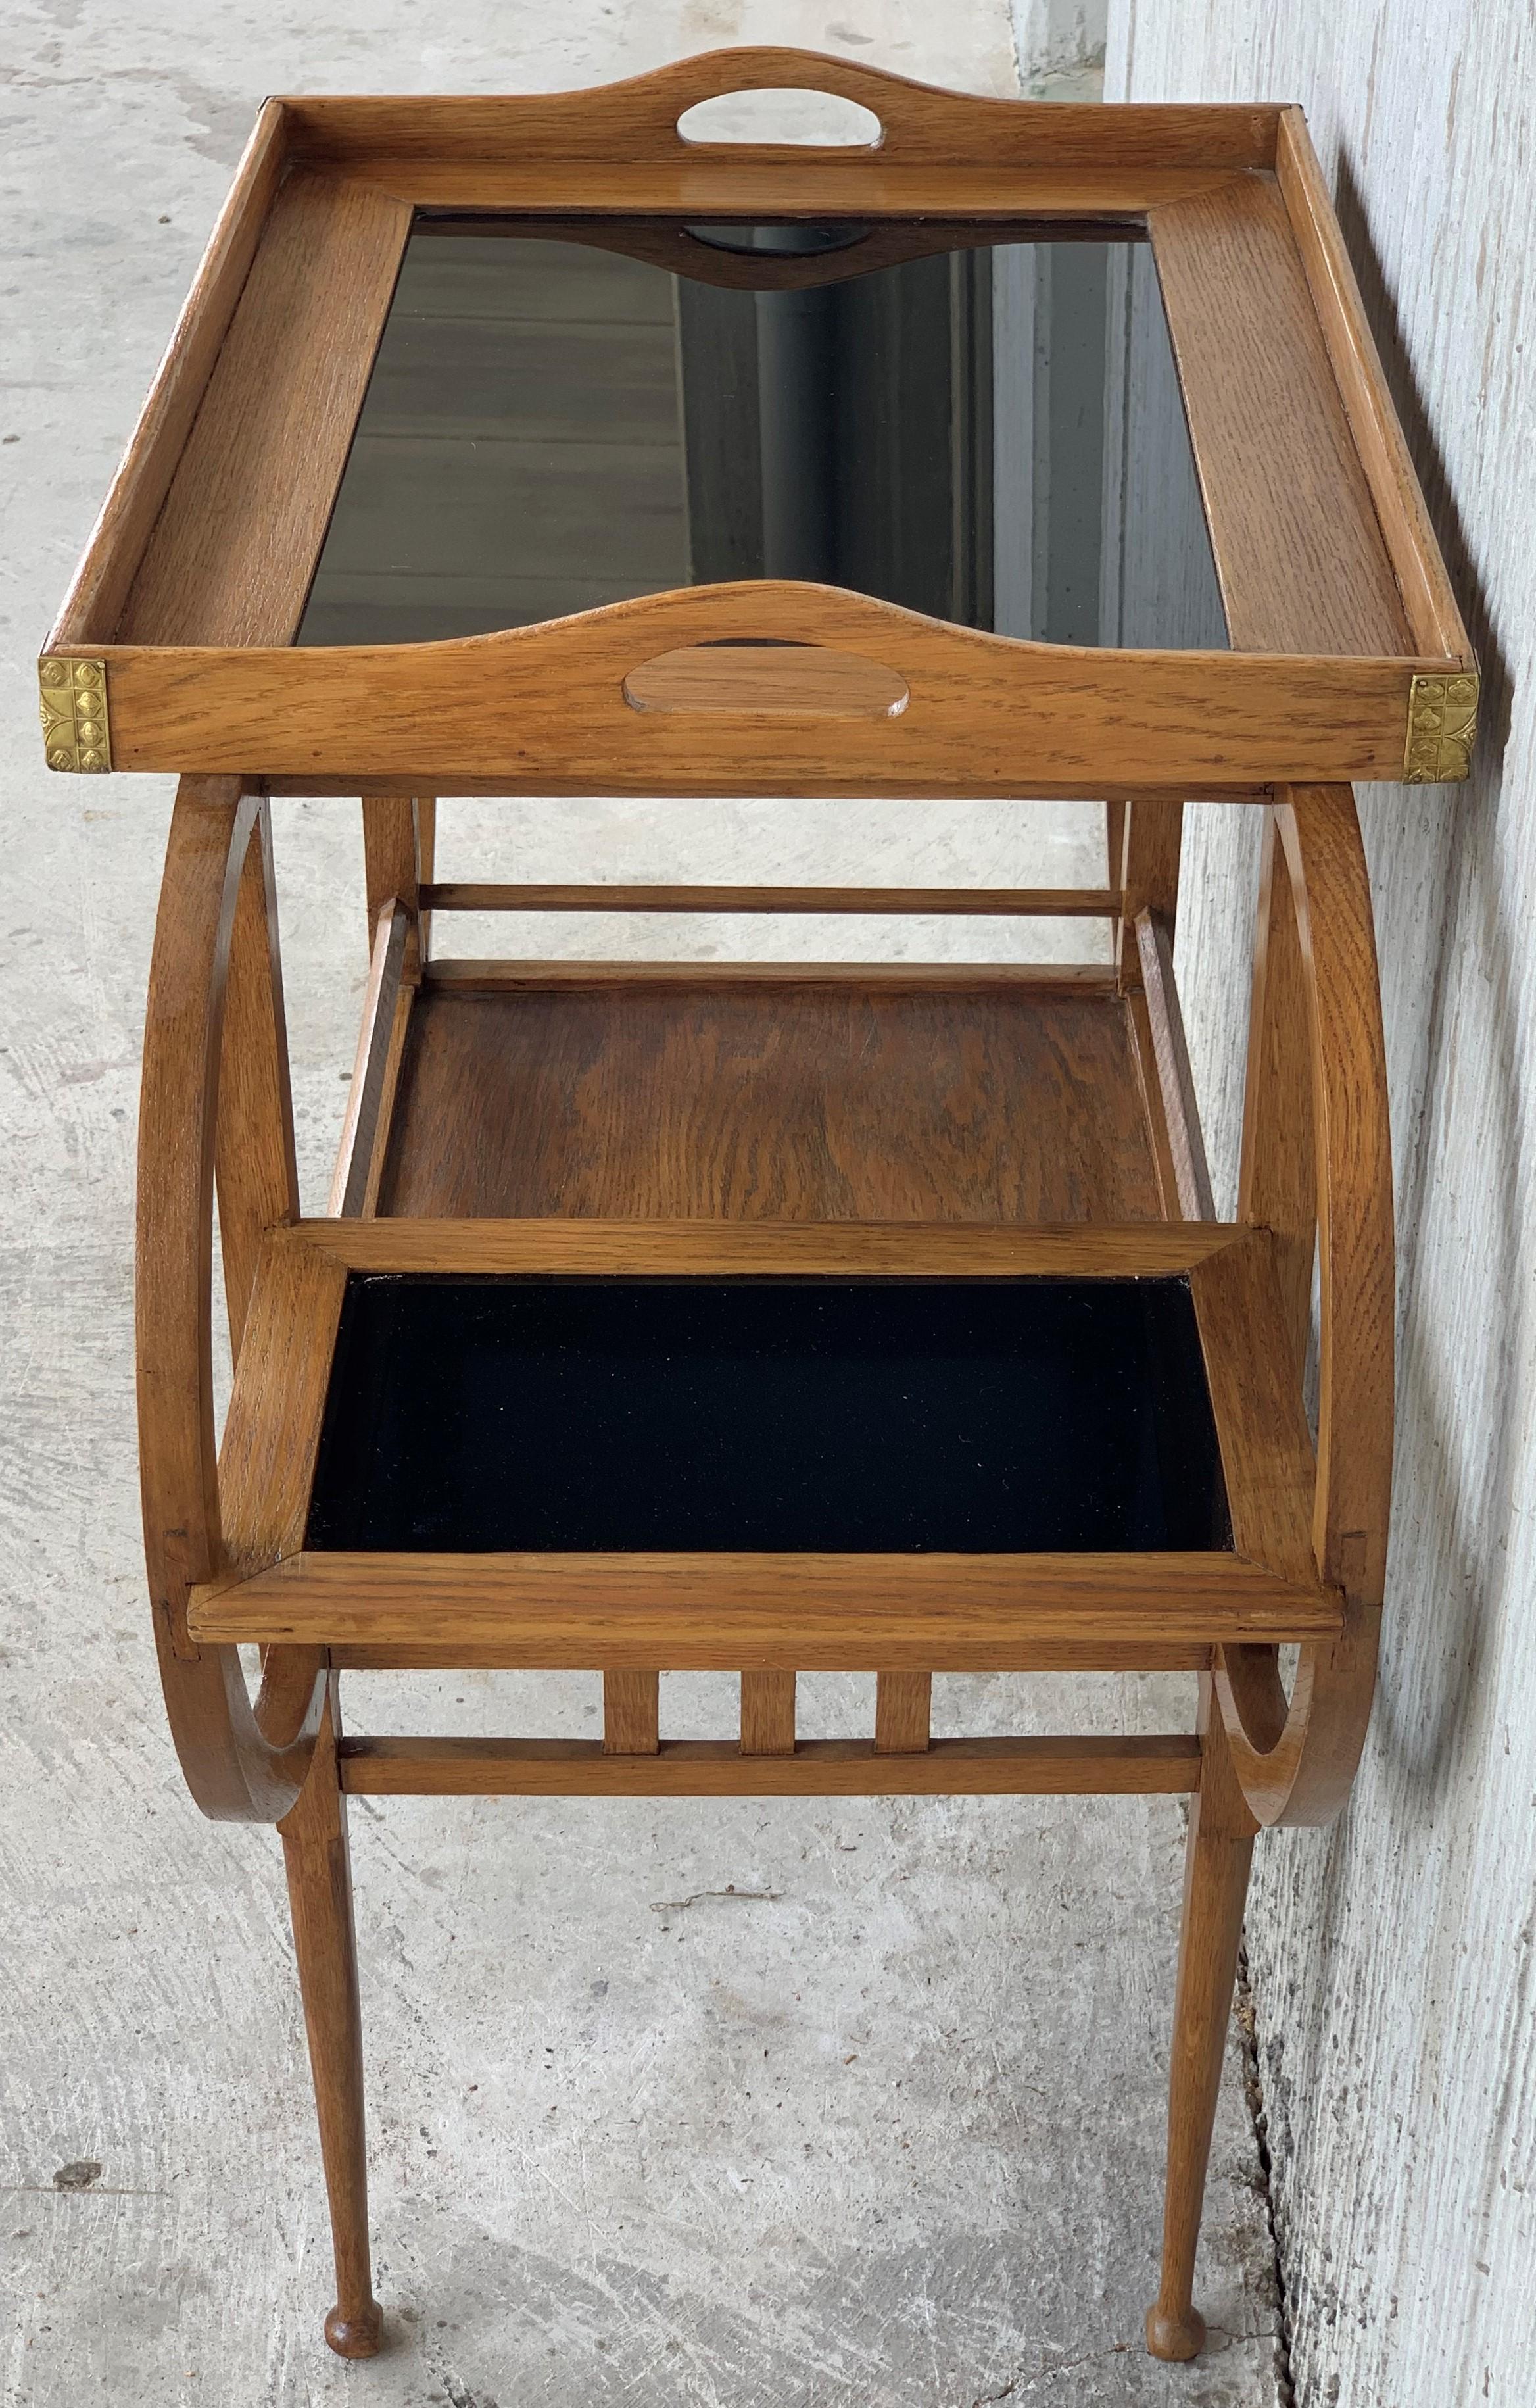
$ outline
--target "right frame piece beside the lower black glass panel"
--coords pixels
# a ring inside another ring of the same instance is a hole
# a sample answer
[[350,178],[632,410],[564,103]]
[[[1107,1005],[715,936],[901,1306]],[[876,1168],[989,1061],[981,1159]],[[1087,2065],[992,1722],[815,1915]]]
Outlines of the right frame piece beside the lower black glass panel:
[[1278,1580],[1310,1587],[1317,1469],[1286,1305],[1266,1233],[1189,1274],[1211,1411],[1221,1438],[1233,1544]]

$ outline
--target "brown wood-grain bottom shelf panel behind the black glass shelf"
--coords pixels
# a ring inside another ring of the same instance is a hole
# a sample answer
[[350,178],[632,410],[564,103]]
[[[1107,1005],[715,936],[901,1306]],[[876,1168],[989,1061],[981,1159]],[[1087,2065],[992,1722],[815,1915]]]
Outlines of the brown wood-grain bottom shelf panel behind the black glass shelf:
[[1136,1221],[1158,1192],[1112,995],[903,995],[855,973],[782,992],[429,982],[378,1209]]

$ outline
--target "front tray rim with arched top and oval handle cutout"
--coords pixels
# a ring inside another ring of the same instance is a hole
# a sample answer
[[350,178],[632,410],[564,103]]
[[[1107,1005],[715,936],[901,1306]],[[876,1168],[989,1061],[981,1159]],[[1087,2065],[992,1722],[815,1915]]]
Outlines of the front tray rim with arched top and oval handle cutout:
[[[339,458],[335,465],[339,474]],[[250,491],[234,472],[231,482],[234,515],[248,510]],[[306,503],[313,547],[330,491],[323,496],[315,482]],[[1445,669],[1440,657],[1324,655],[1319,643],[1331,631],[1322,621],[1288,655],[1119,653],[1021,643],[843,588],[768,578],[638,595],[496,636],[294,650],[289,628],[253,621],[274,585],[284,609],[299,609],[313,549],[303,576],[284,583],[282,547],[272,561],[241,551],[243,542],[260,551],[262,537],[272,539],[270,513],[253,515],[258,525],[224,530],[217,510],[200,510],[197,527],[214,549],[221,544],[217,561],[209,554],[209,578],[231,585],[231,616],[212,633],[200,638],[193,624],[202,588],[188,568],[176,585],[176,626],[149,636],[137,619],[125,621],[140,641],[99,648],[118,768],[246,775],[258,763],[267,778],[332,778],[354,795],[457,792],[465,780],[494,780],[491,790],[506,795],[924,799],[1399,778],[1411,677]],[[1278,566],[1276,578],[1286,590]],[[655,653],[734,641],[862,653],[903,679],[908,708],[886,720],[816,720],[631,710],[624,701],[624,679]]]

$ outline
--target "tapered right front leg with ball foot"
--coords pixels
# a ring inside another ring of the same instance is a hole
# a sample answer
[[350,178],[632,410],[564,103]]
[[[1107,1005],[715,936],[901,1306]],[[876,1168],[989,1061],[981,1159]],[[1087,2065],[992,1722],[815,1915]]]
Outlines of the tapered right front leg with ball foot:
[[1201,1674],[1199,1688],[1201,1784],[1189,1801],[1185,1922],[1172,2003],[1163,2280],[1146,2312],[1146,2348],[1153,2357],[1197,2357],[1206,2338],[1206,2319],[1192,2297],[1194,2244],[1206,2196],[1211,2126],[1257,1830],[1233,1772],[1209,1674]]

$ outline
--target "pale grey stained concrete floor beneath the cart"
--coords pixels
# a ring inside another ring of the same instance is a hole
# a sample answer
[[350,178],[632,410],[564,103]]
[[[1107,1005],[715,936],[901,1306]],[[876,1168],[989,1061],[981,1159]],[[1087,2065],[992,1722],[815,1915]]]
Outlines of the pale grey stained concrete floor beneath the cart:
[[[732,39],[994,92],[1016,77],[994,0],[941,31],[903,0],[833,22],[708,0],[465,0],[450,24],[397,0],[378,17],[373,0],[7,10],[0,2398],[1269,2408],[1274,2256],[1235,2049],[1201,2276],[1211,2353],[1192,2369],[1141,2353],[1170,1801],[359,1801],[390,2350],[342,2367],[320,2341],[325,2208],[279,1849],[188,1804],[142,1601],[132,1129],[169,783],[51,778],[31,660],[265,92],[580,84]],[[893,828],[886,807],[477,807],[450,819],[443,869],[1098,877],[1083,809],[898,811]],[[315,1202],[364,970],[356,811],[279,807],[277,848]],[[636,951],[655,937],[636,932]],[[826,944],[804,925],[780,937]],[[737,932],[696,942],[725,951]],[[595,1678],[402,1690],[354,1681],[351,1719],[597,1717]],[[734,1686],[672,1678],[662,1714],[729,1731]],[[869,1714],[867,1681],[804,1683],[807,1731]],[[1187,1683],[937,1693],[939,1729],[1074,1714],[1182,1724]]]

